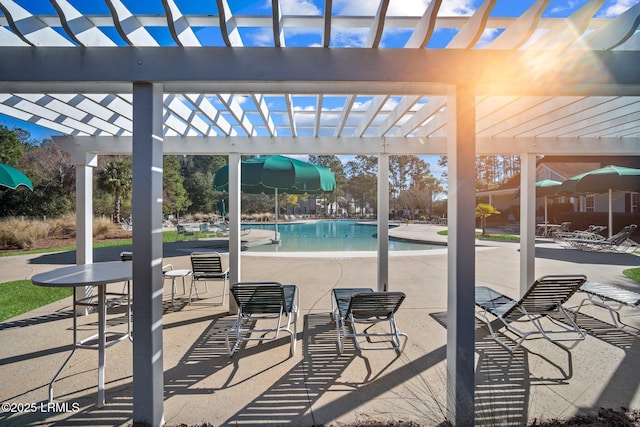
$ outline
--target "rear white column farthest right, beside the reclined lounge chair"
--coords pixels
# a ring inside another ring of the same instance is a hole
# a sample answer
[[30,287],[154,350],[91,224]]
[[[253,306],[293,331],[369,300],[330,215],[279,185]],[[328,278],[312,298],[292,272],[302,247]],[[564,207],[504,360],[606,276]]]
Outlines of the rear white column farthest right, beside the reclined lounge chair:
[[520,155],[520,295],[535,278],[536,261],[536,156]]

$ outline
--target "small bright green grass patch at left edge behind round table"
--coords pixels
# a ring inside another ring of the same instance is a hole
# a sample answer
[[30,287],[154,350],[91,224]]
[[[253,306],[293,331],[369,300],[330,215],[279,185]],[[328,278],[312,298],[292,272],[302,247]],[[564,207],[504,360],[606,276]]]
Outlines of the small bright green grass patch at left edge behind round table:
[[72,294],[72,288],[36,286],[31,280],[0,283],[0,322]]

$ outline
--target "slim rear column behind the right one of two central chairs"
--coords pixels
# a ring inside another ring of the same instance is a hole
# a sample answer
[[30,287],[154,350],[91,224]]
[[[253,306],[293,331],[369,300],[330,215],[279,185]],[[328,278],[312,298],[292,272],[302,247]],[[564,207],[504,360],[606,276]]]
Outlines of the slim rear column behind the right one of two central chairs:
[[389,155],[378,154],[378,291],[389,290]]

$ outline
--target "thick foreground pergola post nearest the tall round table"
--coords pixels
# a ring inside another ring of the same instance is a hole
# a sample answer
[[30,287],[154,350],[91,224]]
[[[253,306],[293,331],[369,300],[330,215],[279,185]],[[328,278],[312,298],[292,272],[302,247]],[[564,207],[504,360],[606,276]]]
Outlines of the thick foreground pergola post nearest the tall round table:
[[133,84],[133,423],[164,424],[162,85]]

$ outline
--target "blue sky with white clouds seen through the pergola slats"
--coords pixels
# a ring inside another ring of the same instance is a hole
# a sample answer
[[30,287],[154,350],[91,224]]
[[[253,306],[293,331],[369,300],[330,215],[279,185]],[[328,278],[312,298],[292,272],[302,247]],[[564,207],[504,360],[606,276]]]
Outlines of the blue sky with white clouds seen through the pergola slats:
[[[55,14],[56,11],[48,0],[15,0],[20,6],[34,14]],[[236,15],[271,15],[271,0],[228,0],[229,6]],[[495,17],[514,17],[521,15],[527,10],[535,0],[498,0],[492,11]],[[607,0],[596,13],[596,17],[613,17],[622,13],[629,7],[637,4],[640,0]],[[109,12],[104,1],[100,0],[69,0],[69,2],[84,14],[107,14]],[[177,6],[185,14],[208,14],[218,13],[216,2],[214,1],[193,1],[175,0]],[[123,0],[123,3],[133,13],[140,14],[164,14],[162,2],[160,0],[140,1]],[[421,16],[429,0],[391,0],[388,16]],[[443,0],[439,14],[441,16],[471,15],[482,3],[481,0]],[[552,0],[546,9],[543,17],[567,17],[584,6],[587,0]],[[323,16],[324,0],[280,0],[280,5],[285,15],[312,15]],[[378,1],[363,0],[334,0],[333,16],[373,16],[378,8]],[[0,12],[1,14],[1,12]],[[161,45],[173,45],[174,42],[166,28],[152,28],[149,30],[153,37]],[[285,30],[285,39],[288,46],[317,46],[322,41],[322,29],[317,28],[295,28]],[[64,35],[62,29],[58,32]],[[124,45],[117,32],[112,29],[105,29],[107,36],[117,45]],[[217,28],[197,28],[196,36],[203,45],[221,46],[224,44]],[[271,28],[241,28],[240,34],[245,46],[273,46],[273,34]],[[480,43],[488,43],[499,34],[499,31],[488,30],[481,38]],[[410,30],[400,28],[386,28],[381,46],[387,48],[402,47],[409,36]],[[455,30],[436,30],[432,41],[428,45],[431,48],[441,48],[447,45],[449,40],[455,35]],[[66,37],[66,35],[64,35]],[[331,35],[332,47],[360,47],[363,46],[367,37],[365,28],[333,28]],[[308,98],[308,99],[306,99]],[[323,110],[332,110],[341,107],[343,100],[340,97],[325,97]],[[356,100],[361,102],[366,108],[366,99]],[[281,100],[273,99],[271,105],[276,110],[281,109]],[[391,99],[393,102],[393,99]],[[305,107],[315,106],[315,97],[297,96],[294,100],[297,111],[304,111]],[[302,119],[301,119],[302,120]],[[36,140],[49,138],[59,133],[42,128],[40,126],[17,120],[8,116],[0,115],[0,125],[9,128],[19,127],[26,129]],[[301,126],[302,128],[302,126]],[[302,134],[304,130],[301,131]],[[437,157],[429,158],[427,161],[432,169],[436,166]]]

